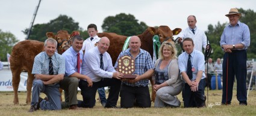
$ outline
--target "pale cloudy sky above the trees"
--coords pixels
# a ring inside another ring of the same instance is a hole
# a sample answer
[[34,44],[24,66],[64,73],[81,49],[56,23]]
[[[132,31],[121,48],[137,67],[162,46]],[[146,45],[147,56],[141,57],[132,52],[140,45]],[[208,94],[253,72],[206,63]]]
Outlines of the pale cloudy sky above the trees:
[[[39,0],[0,0],[0,29],[10,32],[20,41],[26,35]],[[48,23],[58,16],[72,17],[74,22],[87,30],[90,23],[101,25],[108,16],[132,14],[148,26],[169,26],[170,29],[187,28],[187,17],[196,16],[198,29],[206,31],[208,25],[228,22],[230,8],[256,11],[255,0],[42,0],[34,25]],[[56,32],[54,32],[56,33]]]

